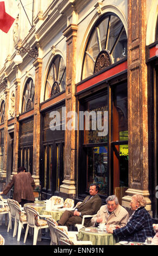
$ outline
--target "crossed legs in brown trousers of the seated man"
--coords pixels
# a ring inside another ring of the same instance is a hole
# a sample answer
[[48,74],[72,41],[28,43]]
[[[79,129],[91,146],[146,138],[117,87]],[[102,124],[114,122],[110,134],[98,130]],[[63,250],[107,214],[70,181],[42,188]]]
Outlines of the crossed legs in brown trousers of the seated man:
[[66,225],[67,228],[69,227],[69,225],[74,225],[74,224],[81,224],[82,222],[82,217],[80,216],[74,216],[74,211],[65,211],[59,222],[58,225]]

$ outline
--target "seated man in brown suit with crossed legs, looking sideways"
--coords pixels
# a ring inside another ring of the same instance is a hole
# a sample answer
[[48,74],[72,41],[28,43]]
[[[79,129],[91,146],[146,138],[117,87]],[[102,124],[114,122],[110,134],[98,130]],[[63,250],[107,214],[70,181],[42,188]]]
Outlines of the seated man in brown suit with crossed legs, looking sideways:
[[[96,184],[91,184],[90,196],[87,196],[74,211],[65,211],[58,224],[66,225],[67,227],[69,227],[69,225],[81,224],[84,215],[96,214],[102,205],[102,200],[98,196],[98,191],[99,187]],[[86,218],[84,225],[85,227],[89,227],[89,225],[91,225],[91,220]]]

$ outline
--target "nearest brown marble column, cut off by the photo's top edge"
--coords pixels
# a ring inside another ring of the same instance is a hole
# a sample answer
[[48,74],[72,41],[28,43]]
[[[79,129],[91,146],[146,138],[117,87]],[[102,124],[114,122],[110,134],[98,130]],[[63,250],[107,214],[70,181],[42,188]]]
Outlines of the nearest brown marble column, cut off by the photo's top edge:
[[122,205],[142,194],[151,209],[148,191],[148,101],[146,65],[146,0],[128,0],[128,131],[129,188]]

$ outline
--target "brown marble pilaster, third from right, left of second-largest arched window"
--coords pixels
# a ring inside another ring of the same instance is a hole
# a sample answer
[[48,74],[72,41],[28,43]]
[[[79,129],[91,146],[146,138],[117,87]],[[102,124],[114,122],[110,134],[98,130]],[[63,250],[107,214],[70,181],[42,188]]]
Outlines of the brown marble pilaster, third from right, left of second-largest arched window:
[[35,184],[40,184],[40,95],[42,77],[42,59],[37,58],[35,66],[35,103],[34,103],[34,142],[33,142],[33,178]]

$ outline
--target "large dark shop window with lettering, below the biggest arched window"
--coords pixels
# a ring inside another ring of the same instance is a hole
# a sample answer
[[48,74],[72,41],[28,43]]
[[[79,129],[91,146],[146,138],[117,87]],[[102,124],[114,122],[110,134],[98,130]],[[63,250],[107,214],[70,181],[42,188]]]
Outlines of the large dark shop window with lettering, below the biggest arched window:
[[[79,179],[83,179],[85,173],[86,176],[79,190],[86,188],[88,191],[90,184],[96,182],[101,195],[107,197],[117,188],[119,196],[119,192],[124,191],[121,187],[128,187],[127,82],[106,86],[99,93],[81,100],[80,106],[84,113],[89,113],[89,118],[84,117],[84,138],[80,132],[83,140],[80,156],[83,161],[79,163]],[[98,133],[98,112],[102,113],[102,136]],[[86,129],[87,123],[90,123],[89,129]]]

